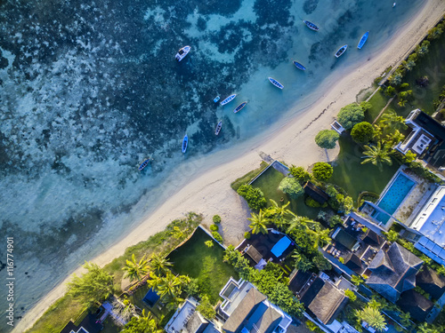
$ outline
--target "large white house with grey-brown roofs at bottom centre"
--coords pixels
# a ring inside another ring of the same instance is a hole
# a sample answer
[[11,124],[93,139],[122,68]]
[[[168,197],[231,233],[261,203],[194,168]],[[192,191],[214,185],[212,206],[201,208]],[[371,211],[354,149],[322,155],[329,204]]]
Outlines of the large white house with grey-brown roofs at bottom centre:
[[227,333],[285,333],[292,322],[248,281],[231,278],[220,296],[224,300],[218,313],[225,320],[223,330]]

